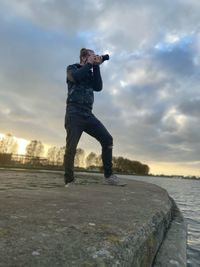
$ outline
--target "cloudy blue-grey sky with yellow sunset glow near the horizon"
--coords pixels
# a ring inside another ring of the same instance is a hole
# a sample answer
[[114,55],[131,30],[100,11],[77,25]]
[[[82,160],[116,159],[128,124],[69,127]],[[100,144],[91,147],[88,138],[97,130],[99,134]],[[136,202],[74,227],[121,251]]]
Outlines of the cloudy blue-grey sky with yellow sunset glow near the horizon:
[[[198,0],[0,1],[0,133],[65,145],[66,67],[109,53],[93,112],[114,156],[200,175]],[[78,147],[101,153],[92,137]]]

